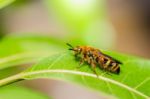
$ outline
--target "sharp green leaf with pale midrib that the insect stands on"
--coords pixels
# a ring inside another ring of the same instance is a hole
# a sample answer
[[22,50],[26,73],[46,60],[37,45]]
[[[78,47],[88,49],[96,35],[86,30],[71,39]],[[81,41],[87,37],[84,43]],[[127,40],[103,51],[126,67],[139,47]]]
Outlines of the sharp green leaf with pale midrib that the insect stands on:
[[84,64],[77,69],[79,61],[75,61],[73,54],[63,53],[45,58],[25,72],[1,80],[0,85],[21,79],[50,78],[79,84],[119,99],[150,98],[150,61],[113,52],[105,53],[123,62],[119,75],[109,75],[96,68],[100,74],[97,77],[90,65]]

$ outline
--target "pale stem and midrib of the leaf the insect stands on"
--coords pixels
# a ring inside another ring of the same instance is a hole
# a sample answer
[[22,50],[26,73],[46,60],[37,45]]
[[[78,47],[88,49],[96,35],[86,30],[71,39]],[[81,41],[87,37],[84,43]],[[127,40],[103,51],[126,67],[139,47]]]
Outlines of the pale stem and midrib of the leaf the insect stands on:
[[96,75],[94,74],[90,74],[90,73],[85,73],[85,72],[79,72],[79,71],[72,71],[72,70],[42,70],[42,71],[34,71],[34,72],[24,72],[24,73],[19,73],[19,74],[16,74],[14,76],[11,76],[11,77],[8,77],[8,78],[5,78],[3,80],[0,80],[0,86],[4,86],[4,85],[7,85],[7,84],[10,84],[10,83],[13,83],[13,82],[16,82],[16,81],[19,81],[19,80],[23,80],[28,78],[29,76],[33,76],[33,75],[37,75],[37,74],[43,74],[43,73],[67,73],[67,74],[75,74],[75,75],[83,75],[83,76],[88,76],[88,77],[92,77],[92,78],[96,78],[96,79],[99,79],[99,80],[103,80],[103,81],[106,81],[106,82],[109,82],[109,83],[112,83],[112,84],[115,84],[117,86],[120,86],[120,87],[123,87],[137,95],[140,95],[146,99],[149,99],[150,97],[141,93],[140,91],[130,87],[130,86],[127,86],[123,83],[120,83],[118,81],[115,81],[113,79],[110,79],[110,78],[106,78],[106,77],[103,77],[103,76],[99,76],[97,78]]

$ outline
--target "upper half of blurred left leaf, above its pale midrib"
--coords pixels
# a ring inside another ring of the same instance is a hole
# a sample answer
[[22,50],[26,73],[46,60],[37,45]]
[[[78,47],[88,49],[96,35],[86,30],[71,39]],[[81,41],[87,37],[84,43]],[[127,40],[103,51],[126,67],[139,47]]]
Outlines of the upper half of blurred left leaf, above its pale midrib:
[[8,35],[0,42],[0,57],[26,52],[58,51],[62,44],[56,38],[42,35]]

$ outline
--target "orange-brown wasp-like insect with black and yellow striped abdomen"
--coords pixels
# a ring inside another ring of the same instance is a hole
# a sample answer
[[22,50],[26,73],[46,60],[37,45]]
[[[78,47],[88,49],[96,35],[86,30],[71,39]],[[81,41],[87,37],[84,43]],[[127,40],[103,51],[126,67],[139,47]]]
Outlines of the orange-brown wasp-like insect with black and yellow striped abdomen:
[[120,73],[120,64],[122,63],[111,56],[102,53],[99,49],[89,46],[73,47],[69,43],[67,43],[67,45],[70,47],[69,50],[74,51],[75,57],[80,57],[80,64],[83,64],[84,62],[90,64],[96,75],[96,66],[104,71],[115,74]]

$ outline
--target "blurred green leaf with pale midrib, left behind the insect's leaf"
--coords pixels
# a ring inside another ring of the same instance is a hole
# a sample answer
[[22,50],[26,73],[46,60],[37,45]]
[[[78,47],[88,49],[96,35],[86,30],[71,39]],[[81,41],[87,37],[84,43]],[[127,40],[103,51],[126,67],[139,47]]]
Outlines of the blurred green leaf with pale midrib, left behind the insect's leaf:
[[0,42],[0,69],[39,59],[63,51],[60,40],[38,35],[9,35]]

